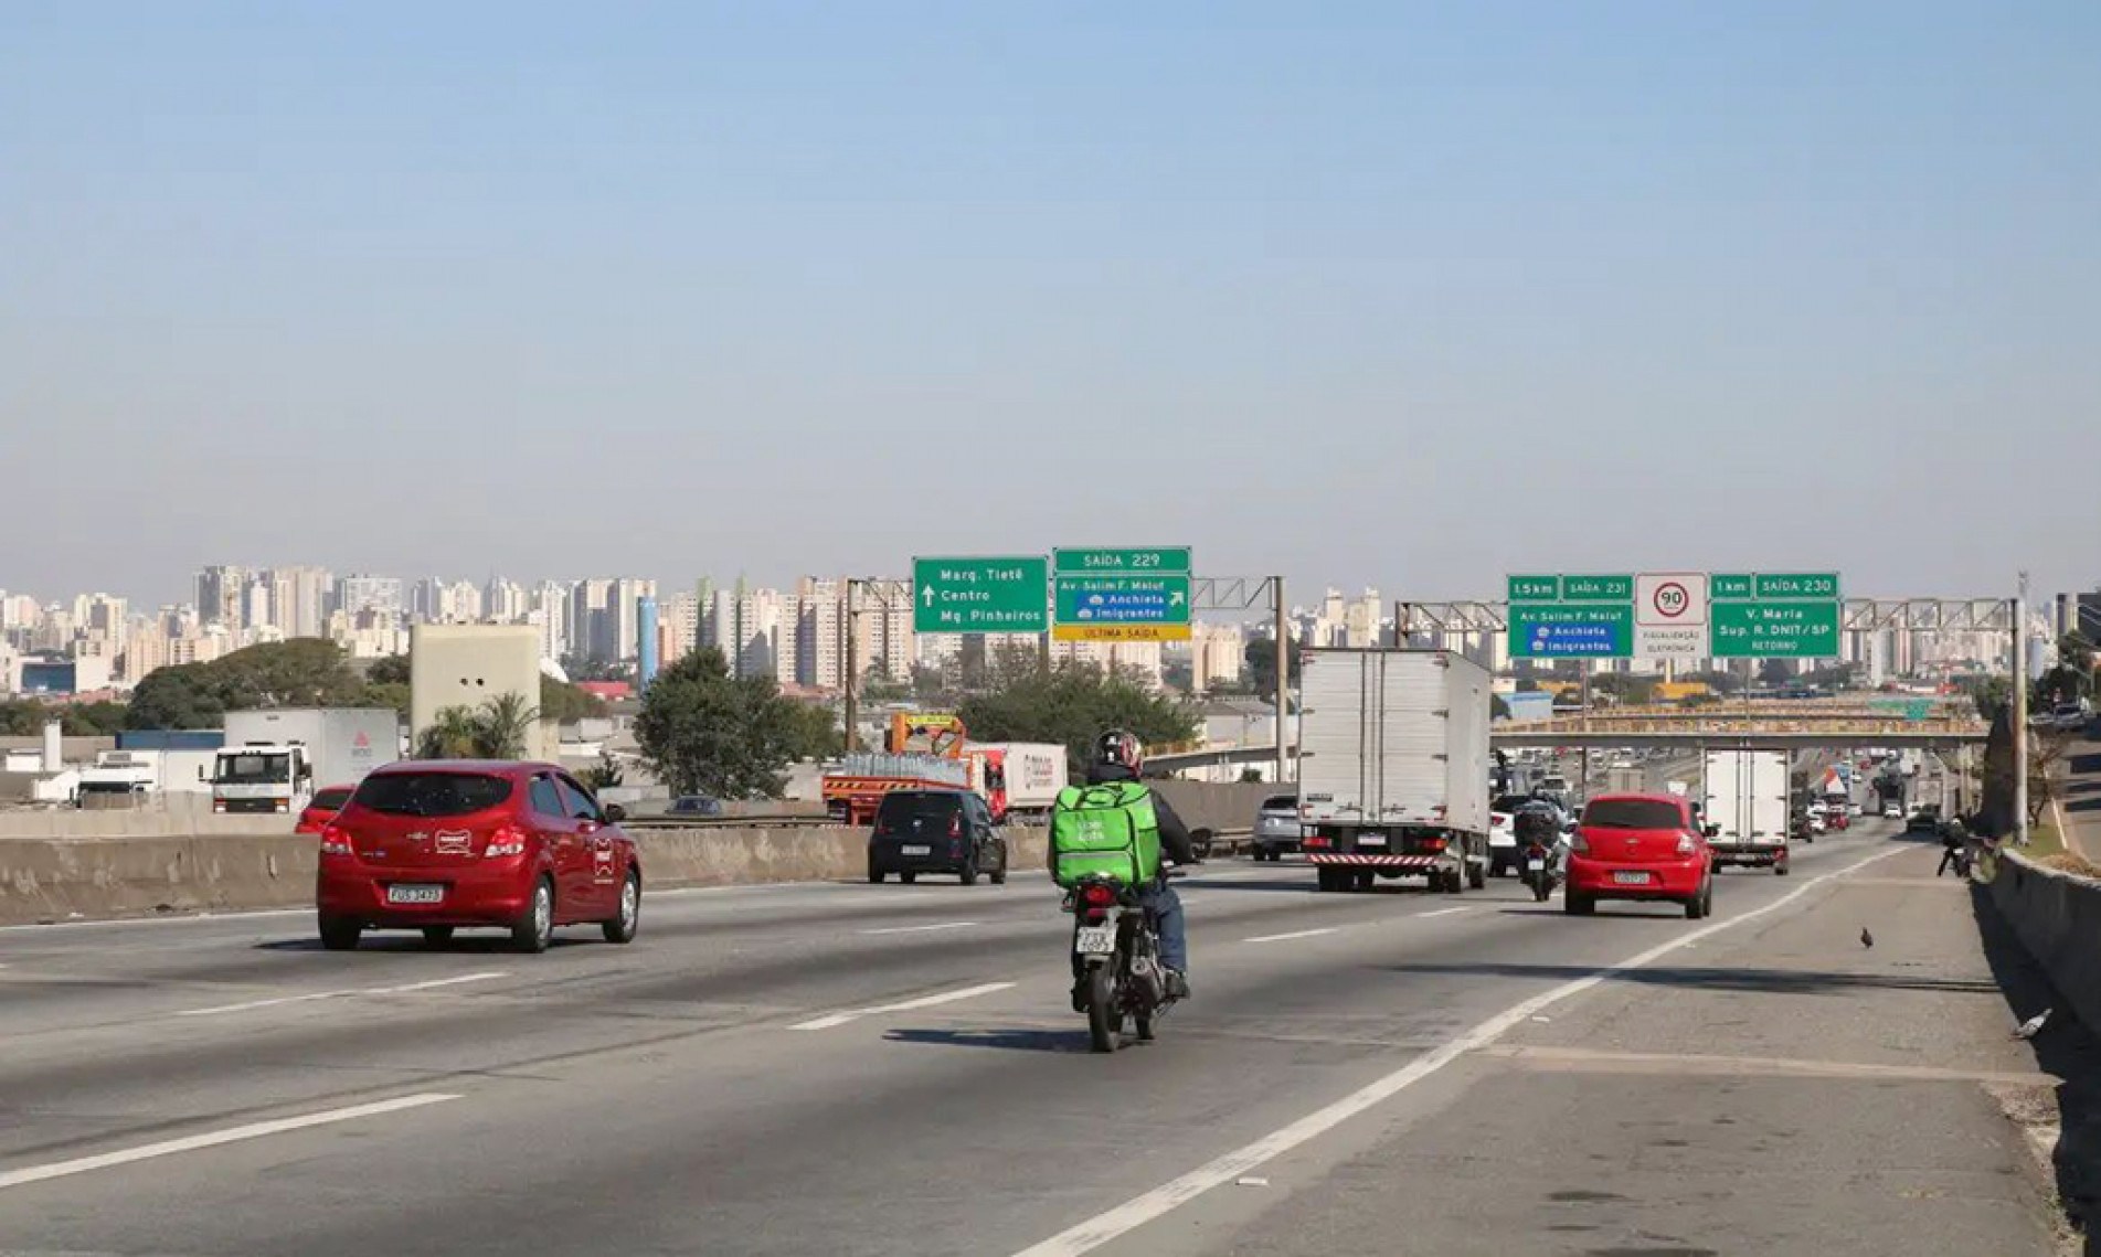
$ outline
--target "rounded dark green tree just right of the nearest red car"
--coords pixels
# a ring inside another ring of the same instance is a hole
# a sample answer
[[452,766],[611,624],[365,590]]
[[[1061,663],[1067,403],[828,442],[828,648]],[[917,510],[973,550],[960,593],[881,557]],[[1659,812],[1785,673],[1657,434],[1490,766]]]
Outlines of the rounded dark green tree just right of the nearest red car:
[[649,684],[635,741],[677,795],[779,797],[800,749],[796,703],[771,676],[729,676],[714,646],[693,651]]

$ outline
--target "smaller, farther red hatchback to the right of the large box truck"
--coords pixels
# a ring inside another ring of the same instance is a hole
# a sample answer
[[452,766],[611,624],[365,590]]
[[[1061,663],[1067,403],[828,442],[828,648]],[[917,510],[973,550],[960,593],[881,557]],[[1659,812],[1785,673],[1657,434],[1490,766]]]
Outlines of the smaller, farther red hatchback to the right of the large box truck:
[[1714,856],[1679,795],[1590,800],[1567,862],[1563,907],[1576,917],[1601,898],[1681,902],[1693,921],[1714,911]]

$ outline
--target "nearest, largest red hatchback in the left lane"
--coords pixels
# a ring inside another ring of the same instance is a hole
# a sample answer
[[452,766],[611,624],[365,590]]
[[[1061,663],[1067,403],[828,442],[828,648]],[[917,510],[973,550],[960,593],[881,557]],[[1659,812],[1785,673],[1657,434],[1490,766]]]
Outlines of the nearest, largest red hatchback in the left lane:
[[321,831],[321,946],[366,930],[511,930],[546,951],[557,925],[599,923],[632,942],[643,869],[622,810],[555,764],[410,760],[376,768]]

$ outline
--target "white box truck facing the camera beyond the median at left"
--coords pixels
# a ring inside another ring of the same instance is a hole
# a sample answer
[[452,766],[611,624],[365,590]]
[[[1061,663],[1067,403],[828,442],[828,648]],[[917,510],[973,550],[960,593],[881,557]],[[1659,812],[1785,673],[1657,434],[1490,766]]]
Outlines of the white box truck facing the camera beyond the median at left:
[[357,785],[401,758],[393,707],[279,707],[227,711],[227,745],[212,760],[214,812],[298,812],[313,791]]

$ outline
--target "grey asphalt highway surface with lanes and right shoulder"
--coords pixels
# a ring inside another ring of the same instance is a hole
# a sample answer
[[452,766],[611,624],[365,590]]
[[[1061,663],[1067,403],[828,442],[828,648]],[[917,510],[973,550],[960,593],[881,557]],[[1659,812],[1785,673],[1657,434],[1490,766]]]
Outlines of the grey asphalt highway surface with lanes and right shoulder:
[[8,930],[0,1251],[2046,1253],[1933,856],[1857,827],[1714,921],[1208,865],[1195,999],[1116,1056],[1040,875],[653,894],[542,957]]

